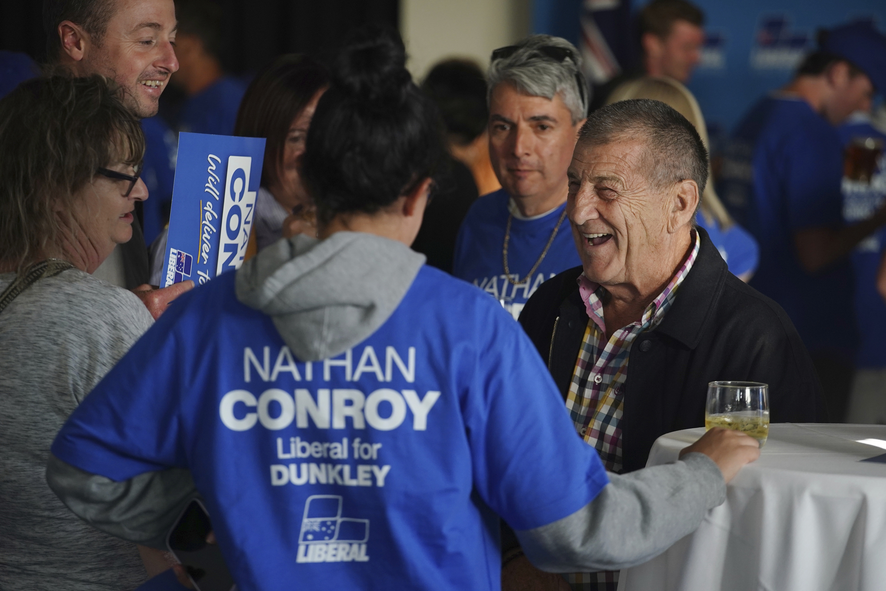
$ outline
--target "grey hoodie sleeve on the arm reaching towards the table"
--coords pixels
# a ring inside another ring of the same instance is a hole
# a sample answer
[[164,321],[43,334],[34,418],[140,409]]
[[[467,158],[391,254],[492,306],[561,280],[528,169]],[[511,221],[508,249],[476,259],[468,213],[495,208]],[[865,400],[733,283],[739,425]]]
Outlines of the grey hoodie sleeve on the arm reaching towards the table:
[[585,507],[548,525],[517,531],[525,555],[543,571],[618,571],[642,564],[695,531],[726,500],[726,483],[707,455],[610,474]]

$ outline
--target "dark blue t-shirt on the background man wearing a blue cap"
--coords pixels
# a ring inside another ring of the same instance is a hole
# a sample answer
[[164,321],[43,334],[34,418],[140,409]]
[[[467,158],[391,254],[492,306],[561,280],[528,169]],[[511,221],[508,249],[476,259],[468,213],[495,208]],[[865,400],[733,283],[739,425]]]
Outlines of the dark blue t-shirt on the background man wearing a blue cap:
[[851,359],[856,337],[849,261],[812,276],[800,265],[793,237],[802,229],[843,225],[842,177],[836,128],[804,100],[771,96],[735,128],[718,192],[760,247],[750,284],[784,308],[810,352]]

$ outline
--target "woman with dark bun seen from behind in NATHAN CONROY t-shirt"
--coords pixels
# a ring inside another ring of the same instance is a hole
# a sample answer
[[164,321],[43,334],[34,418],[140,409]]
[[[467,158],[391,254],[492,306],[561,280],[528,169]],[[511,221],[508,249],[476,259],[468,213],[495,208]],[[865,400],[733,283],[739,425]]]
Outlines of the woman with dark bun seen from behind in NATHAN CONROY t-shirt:
[[498,589],[500,516],[543,569],[618,569],[756,457],[717,430],[607,476],[519,324],[408,247],[443,145],[405,59],[373,27],[338,60],[303,159],[319,239],[183,296],[59,432],[75,513],[159,545],[192,478],[239,588]]

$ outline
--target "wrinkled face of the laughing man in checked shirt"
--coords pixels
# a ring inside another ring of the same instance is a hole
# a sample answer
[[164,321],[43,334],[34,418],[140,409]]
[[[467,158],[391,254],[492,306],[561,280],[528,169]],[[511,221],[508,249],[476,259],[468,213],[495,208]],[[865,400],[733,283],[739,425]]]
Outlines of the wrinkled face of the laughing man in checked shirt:
[[648,267],[667,237],[671,199],[650,186],[645,150],[640,139],[575,147],[566,208],[585,276],[595,283],[630,283],[657,271]]

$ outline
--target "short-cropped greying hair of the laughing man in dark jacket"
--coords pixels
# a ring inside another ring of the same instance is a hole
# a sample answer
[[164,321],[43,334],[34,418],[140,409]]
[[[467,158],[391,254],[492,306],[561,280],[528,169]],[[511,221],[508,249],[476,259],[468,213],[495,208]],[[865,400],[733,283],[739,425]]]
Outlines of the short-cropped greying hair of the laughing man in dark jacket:
[[708,181],[708,151],[696,128],[660,100],[633,98],[602,107],[579,129],[579,144],[606,145],[622,139],[646,142],[641,167],[649,183],[664,189],[691,179],[701,203]]

